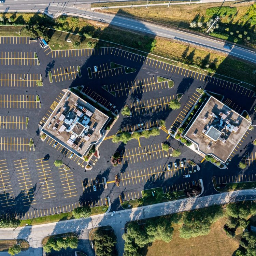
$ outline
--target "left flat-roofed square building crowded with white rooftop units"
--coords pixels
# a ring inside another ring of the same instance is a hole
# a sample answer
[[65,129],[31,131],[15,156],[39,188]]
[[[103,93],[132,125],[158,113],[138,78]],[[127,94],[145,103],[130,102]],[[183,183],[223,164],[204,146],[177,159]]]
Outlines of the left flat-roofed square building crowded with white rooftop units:
[[82,157],[91,145],[102,139],[102,130],[108,120],[109,116],[67,90],[42,132]]

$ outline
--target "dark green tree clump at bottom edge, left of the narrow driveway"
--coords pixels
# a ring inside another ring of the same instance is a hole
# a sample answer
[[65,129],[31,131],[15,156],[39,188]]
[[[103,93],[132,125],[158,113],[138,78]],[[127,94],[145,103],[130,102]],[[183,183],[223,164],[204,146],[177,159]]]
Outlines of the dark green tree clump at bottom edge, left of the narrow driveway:
[[116,236],[113,230],[98,228],[94,233],[95,251],[98,256],[115,256]]

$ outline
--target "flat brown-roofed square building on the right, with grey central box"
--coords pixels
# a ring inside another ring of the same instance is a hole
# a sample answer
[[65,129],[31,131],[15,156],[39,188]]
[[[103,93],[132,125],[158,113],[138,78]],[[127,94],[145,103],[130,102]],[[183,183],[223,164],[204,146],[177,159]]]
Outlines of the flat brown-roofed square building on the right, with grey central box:
[[183,137],[199,153],[225,163],[250,125],[249,120],[211,96]]

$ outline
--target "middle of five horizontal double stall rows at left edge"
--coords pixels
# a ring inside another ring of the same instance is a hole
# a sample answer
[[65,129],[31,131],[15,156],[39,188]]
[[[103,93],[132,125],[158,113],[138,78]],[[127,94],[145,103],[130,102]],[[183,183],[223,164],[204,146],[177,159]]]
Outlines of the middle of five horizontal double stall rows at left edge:
[[34,95],[0,95],[0,108],[1,109],[37,109],[40,106],[40,102],[36,101]]

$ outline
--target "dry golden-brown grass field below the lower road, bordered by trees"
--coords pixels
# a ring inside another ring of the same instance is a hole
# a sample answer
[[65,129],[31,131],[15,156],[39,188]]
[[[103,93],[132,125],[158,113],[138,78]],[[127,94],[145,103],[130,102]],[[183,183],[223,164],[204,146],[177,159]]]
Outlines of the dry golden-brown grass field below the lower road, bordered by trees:
[[[227,237],[222,218],[211,227],[207,236],[199,236],[188,240],[179,237],[179,224],[173,224],[174,233],[170,243],[155,241],[147,248],[146,256],[232,256],[239,246],[240,233],[235,238]],[[240,231],[241,232],[241,231]]]

